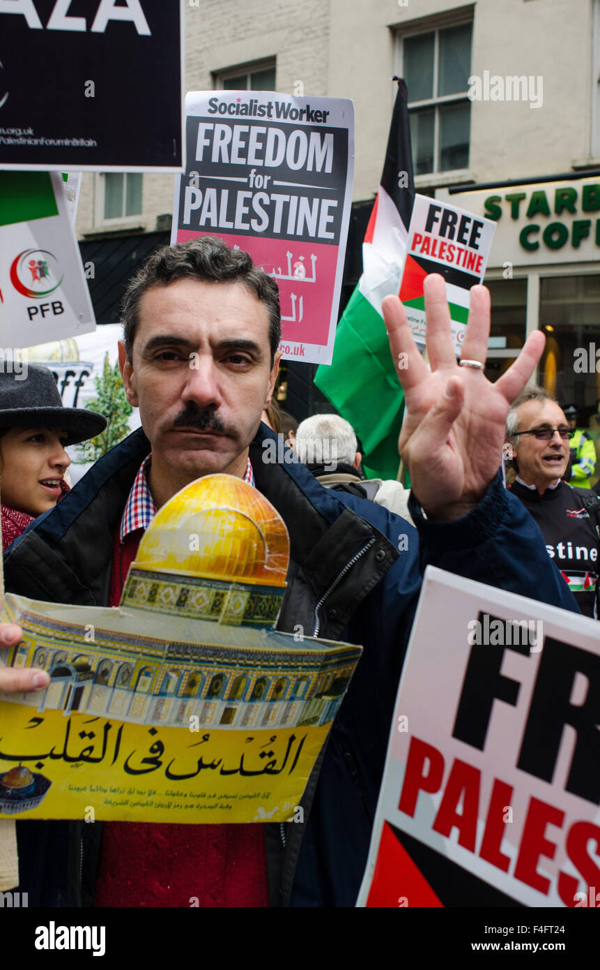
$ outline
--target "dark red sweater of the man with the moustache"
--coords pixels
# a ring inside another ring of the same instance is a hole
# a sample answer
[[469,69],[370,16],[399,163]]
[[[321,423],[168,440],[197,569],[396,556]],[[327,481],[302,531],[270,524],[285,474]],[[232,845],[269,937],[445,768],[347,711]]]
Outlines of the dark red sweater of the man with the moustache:
[[[143,530],[114,537],[118,605]],[[104,824],[94,906],[268,906],[262,824]]]

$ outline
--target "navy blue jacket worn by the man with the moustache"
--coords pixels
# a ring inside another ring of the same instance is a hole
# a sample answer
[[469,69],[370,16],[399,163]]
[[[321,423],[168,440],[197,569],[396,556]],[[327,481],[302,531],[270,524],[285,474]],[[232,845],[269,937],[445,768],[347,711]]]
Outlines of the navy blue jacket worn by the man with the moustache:
[[[271,464],[265,445],[273,437],[261,425],[250,459],[257,488],[290,533],[277,626],[360,643],[363,657],[302,799],[303,823],[265,826],[270,898],[273,905],[353,906],[426,566],[578,608],[537,526],[499,473],[477,508],[457,522],[428,522],[411,499],[414,529],[382,506],[324,488],[287,449],[283,463]],[[134,432],[16,539],[5,558],[9,592],[108,604],[114,531],[148,450],[142,431]],[[29,891],[29,905],[89,905],[101,826],[17,828],[20,889]]]

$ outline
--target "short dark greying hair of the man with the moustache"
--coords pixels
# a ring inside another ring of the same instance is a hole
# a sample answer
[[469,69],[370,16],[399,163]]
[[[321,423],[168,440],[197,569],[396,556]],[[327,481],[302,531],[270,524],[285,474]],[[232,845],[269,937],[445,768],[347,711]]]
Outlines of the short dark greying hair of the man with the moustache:
[[247,252],[230,249],[215,236],[201,236],[190,242],[165,245],[150,256],[130,280],[123,296],[122,323],[125,349],[133,360],[134,339],[140,322],[140,302],[152,286],[169,286],[177,279],[202,282],[240,282],[265,305],[268,313],[270,363],[273,364],[281,339],[279,290],[276,282],[254,266]]

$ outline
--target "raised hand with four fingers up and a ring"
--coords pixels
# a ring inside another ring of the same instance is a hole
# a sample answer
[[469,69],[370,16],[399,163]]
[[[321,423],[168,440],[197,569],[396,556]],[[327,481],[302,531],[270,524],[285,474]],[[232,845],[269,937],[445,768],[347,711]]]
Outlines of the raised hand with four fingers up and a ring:
[[[486,362],[489,306],[489,290],[473,286],[463,361]],[[458,366],[443,276],[426,277],[425,307],[430,372],[398,298],[388,296],[382,305],[406,402],[400,457],[427,517],[445,521],[465,515],[485,495],[500,466],[510,404],[534,372],[546,338],[541,331],[530,334],[515,363],[492,384],[483,370]]]

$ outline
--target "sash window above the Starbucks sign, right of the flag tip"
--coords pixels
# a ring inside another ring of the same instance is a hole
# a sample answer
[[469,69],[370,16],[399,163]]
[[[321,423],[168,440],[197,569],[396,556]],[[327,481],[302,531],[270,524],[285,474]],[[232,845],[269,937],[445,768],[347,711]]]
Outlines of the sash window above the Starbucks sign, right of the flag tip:
[[472,23],[399,38],[416,176],[469,165]]

